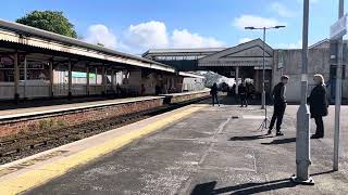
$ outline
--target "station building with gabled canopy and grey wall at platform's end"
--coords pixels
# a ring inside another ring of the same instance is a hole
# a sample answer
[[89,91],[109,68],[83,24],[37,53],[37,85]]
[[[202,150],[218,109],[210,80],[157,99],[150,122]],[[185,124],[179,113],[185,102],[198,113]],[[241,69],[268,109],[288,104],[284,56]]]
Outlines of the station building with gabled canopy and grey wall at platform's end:
[[[287,99],[300,101],[301,49],[273,49],[265,43],[265,90],[270,94],[282,75],[288,75]],[[240,83],[252,80],[257,93],[262,92],[263,41],[254,39],[232,48],[163,49],[149,50],[146,58],[171,65],[179,70],[212,70]],[[312,76],[322,74],[331,98],[335,95],[336,66],[331,64],[330,40],[322,40],[309,48],[309,90],[314,84]],[[344,66],[343,99],[348,99],[347,69]]]

